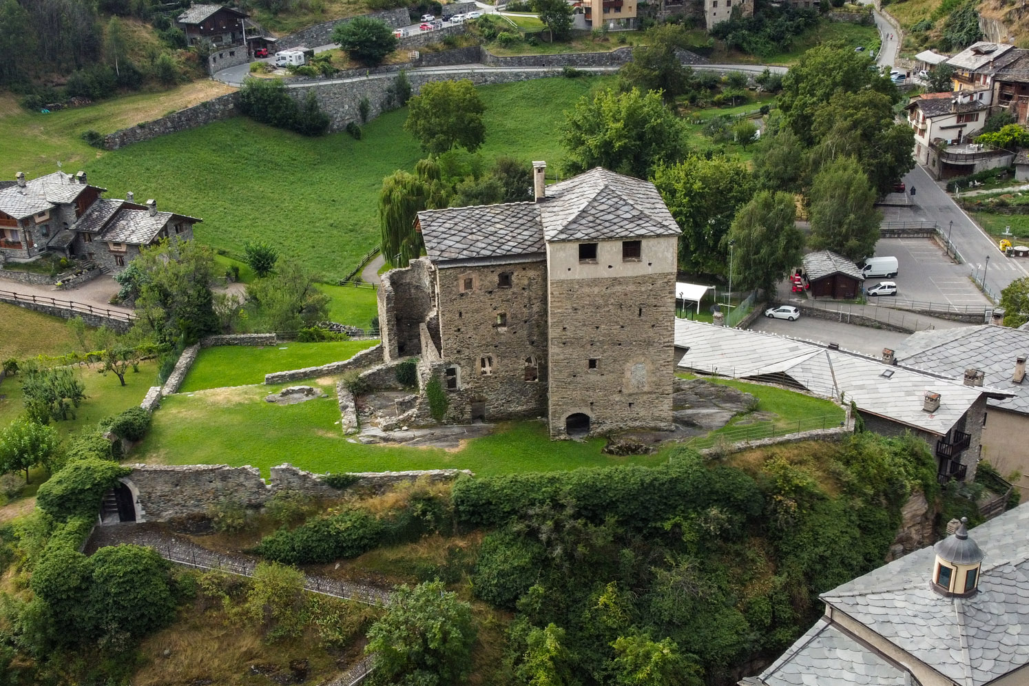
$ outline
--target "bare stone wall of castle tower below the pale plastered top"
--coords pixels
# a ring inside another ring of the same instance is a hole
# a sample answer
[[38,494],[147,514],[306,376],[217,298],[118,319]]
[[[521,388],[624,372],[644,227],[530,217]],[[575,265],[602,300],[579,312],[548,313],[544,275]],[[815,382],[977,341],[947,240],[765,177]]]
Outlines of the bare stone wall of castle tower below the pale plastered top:
[[552,436],[575,412],[592,434],[671,428],[674,291],[674,273],[551,282]]

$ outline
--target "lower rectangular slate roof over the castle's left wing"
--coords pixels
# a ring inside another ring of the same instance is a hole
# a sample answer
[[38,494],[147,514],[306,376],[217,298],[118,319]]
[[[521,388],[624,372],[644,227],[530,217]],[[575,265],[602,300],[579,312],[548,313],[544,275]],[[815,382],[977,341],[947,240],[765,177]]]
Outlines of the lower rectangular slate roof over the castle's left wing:
[[433,262],[543,252],[536,203],[506,203],[418,213]]

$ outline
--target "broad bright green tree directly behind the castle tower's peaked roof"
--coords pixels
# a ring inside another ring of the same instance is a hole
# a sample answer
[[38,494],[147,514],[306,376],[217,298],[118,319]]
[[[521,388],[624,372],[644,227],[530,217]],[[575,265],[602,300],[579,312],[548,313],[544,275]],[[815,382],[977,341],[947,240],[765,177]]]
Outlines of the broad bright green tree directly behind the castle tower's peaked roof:
[[645,179],[658,165],[674,165],[686,151],[682,120],[654,92],[605,89],[583,97],[567,113],[561,143],[567,171],[603,167]]

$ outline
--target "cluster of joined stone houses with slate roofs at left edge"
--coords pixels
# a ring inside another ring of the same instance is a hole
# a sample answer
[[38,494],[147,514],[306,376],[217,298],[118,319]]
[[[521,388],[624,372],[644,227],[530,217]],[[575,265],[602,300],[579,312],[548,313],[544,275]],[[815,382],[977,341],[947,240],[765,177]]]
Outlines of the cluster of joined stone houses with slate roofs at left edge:
[[0,258],[28,261],[43,252],[95,260],[105,273],[119,272],[143,246],[162,239],[188,241],[202,221],[158,212],[156,202],[137,204],[101,197],[107,189],[86,183],[84,172],[55,172],[0,185]]

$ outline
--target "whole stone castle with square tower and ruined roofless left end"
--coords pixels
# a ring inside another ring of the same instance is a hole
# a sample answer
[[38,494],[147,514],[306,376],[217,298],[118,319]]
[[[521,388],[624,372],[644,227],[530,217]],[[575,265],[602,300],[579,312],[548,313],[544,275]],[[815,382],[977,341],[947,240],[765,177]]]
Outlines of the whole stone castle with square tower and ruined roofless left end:
[[426,256],[379,290],[386,361],[420,356],[448,422],[671,429],[678,225],[648,182],[533,167],[535,202],[419,213]]

